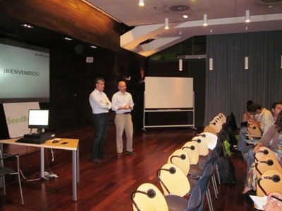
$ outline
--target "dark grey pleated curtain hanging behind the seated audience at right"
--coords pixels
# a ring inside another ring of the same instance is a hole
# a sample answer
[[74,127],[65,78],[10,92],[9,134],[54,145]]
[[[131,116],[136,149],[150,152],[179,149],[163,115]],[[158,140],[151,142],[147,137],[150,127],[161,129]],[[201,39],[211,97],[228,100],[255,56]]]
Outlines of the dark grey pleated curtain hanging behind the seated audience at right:
[[218,113],[227,117],[231,112],[240,124],[248,100],[269,109],[274,101],[282,101],[281,55],[281,30],[207,36],[204,125]]

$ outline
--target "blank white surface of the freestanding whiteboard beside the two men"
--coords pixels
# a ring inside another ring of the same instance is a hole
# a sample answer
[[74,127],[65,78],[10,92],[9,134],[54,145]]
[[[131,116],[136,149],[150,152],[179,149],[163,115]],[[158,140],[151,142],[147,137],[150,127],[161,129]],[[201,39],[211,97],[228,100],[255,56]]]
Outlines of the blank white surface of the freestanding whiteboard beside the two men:
[[193,79],[146,77],[145,108],[193,108]]

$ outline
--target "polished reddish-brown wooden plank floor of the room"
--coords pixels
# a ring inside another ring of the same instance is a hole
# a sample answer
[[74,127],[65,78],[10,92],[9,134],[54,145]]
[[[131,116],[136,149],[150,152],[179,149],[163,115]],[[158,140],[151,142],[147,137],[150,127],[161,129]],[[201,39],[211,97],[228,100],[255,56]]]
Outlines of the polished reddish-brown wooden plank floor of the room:
[[[111,125],[106,137],[106,152],[111,158],[101,165],[90,162],[92,125],[63,129],[56,136],[80,139],[80,184],[78,201],[72,200],[71,153],[65,155],[69,162],[56,165],[51,170],[59,176],[54,181],[22,181],[25,205],[20,205],[18,183],[6,186],[6,198],[0,192],[0,210],[133,210],[130,194],[142,183],[150,182],[161,188],[156,172],[168,156],[201,130],[187,128],[135,129],[134,151],[136,156],[116,158],[115,127]],[[55,160],[58,158],[56,151]],[[219,185],[219,199],[214,198],[214,210],[254,210],[250,198],[243,198],[245,162],[242,156],[232,155],[237,182],[234,186]],[[27,161],[25,161],[27,162]],[[21,162],[21,165],[27,163]],[[36,175],[38,177],[39,174]],[[28,176],[28,175],[26,175]],[[204,210],[209,210],[207,201]]]

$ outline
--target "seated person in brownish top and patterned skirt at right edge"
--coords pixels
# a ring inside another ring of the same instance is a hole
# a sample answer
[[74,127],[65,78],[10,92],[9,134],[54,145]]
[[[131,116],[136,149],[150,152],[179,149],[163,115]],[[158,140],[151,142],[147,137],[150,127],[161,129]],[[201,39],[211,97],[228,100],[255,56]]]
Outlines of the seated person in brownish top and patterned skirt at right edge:
[[[269,147],[271,151],[274,151],[274,153],[276,153],[277,155],[280,165],[282,165],[282,110],[279,112],[276,122],[272,124],[271,127],[269,127],[269,129],[264,134],[262,139],[255,146],[254,150],[253,151],[250,150],[247,153],[248,156],[246,157],[249,162],[250,160],[252,160],[252,162],[254,161],[253,153],[257,153],[261,146]],[[252,171],[250,170],[250,167],[247,170],[248,173]],[[254,191],[252,188],[252,184],[250,184],[250,181],[252,181],[252,179],[250,179],[249,176],[252,177],[252,175],[247,174],[247,179],[245,181],[245,188],[242,193],[243,195],[247,195],[248,193],[253,193]]]

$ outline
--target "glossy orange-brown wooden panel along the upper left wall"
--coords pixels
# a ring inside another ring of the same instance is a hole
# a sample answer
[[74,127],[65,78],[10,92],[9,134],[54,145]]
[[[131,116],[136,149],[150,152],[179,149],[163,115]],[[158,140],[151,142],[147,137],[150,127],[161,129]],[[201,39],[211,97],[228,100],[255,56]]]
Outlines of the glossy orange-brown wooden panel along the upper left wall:
[[120,23],[80,0],[4,0],[0,14],[117,51]]

